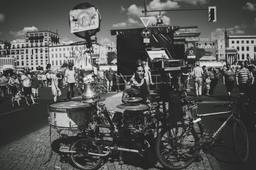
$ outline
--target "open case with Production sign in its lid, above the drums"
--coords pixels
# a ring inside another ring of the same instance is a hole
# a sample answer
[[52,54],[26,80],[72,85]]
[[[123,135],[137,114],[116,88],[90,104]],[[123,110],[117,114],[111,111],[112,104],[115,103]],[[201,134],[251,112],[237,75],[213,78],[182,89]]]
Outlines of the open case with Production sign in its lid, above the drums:
[[184,67],[184,60],[175,60],[165,48],[146,48],[146,56],[154,68]]

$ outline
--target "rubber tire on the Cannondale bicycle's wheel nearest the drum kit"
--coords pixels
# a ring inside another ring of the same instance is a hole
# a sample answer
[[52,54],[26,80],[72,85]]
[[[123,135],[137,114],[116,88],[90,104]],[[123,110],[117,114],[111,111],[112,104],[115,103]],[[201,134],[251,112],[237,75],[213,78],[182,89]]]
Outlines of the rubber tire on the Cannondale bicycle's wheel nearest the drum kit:
[[[186,127],[188,127],[187,124],[184,124],[183,128],[186,129]],[[167,133],[167,132],[170,132],[171,129],[173,129],[172,127],[169,127],[167,129],[163,129],[161,132],[160,132],[160,135],[158,135],[157,137],[157,140],[156,140],[156,146],[155,146],[155,149],[156,149],[156,156],[157,156],[157,159],[159,161],[159,163],[162,164],[162,166],[166,169],[170,169],[170,170],[180,170],[180,169],[185,169],[187,168],[189,165],[191,165],[195,160],[196,160],[196,155],[198,155],[198,152],[200,151],[200,149],[195,149],[193,152],[193,154],[191,155],[191,159],[188,159],[188,158],[185,158],[185,160],[187,160],[185,163],[183,164],[180,164],[180,165],[174,165],[174,164],[169,164],[167,163],[167,161],[165,161],[162,156],[161,156],[161,153],[160,153],[160,144],[161,144],[161,139],[162,137]],[[194,127],[192,127],[192,130],[190,131],[190,135],[193,136],[193,138],[195,139],[195,144],[198,144],[199,146],[199,143],[200,143],[200,140],[198,138],[198,135],[195,133],[194,131]],[[168,135],[167,135],[168,136]],[[191,140],[189,140],[189,142],[191,142]],[[193,142],[192,142],[193,143]],[[180,161],[177,160],[177,162],[179,163]]]

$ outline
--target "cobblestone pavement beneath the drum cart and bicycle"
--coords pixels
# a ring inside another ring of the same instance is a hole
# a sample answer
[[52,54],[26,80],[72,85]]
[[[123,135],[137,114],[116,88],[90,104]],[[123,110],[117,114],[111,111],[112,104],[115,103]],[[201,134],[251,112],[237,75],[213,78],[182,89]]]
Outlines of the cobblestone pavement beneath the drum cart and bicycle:
[[[113,97],[107,98],[106,104],[108,110],[116,110],[115,106],[121,104],[120,93]],[[52,130],[52,144],[53,155],[49,162],[47,162],[50,153],[49,141],[49,126],[32,132],[19,140],[9,143],[8,145],[0,148],[0,169],[1,170],[73,170],[76,169],[69,163],[67,156],[62,157],[59,154],[59,134],[56,130]],[[72,134],[70,134],[72,135]],[[202,152],[202,151],[201,151]],[[219,164],[210,155],[201,155],[200,162],[192,163],[186,170],[204,170],[204,169],[220,169]],[[71,162],[71,161],[70,161]],[[117,160],[108,161],[104,163],[101,170],[140,170],[141,167],[132,165],[119,165]],[[150,170],[163,170],[164,168],[160,163],[157,163],[154,168]]]

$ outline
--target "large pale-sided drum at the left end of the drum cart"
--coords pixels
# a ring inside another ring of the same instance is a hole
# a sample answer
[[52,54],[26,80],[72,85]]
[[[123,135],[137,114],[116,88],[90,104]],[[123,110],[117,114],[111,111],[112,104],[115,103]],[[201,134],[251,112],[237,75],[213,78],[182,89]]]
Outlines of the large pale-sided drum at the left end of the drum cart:
[[49,126],[60,130],[87,128],[94,109],[89,104],[74,101],[51,103],[48,105]]

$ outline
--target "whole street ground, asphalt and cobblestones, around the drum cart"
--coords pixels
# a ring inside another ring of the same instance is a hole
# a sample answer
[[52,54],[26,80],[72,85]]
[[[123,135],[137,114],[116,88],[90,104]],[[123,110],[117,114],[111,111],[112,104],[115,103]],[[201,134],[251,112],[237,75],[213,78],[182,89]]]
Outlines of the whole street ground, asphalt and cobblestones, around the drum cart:
[[[220,78],[221,79],[221,78]],[[194,87],[193,83],[189,85]],[[235,86],[231,95],[231,100],[238,99],[238,88]],[[62,98],[66,97],[66,88],[61,89]],[[51,89],[39,89],[40,99],[35,99],[39,105],[26,106],[25,100],[21,101],[22,107],[11,106],[10,99],[7,102],[1,103],[0,111],[0,169],[76,169],[69,159],[60,157],[58,133],[56,130],[52,131],[53,142],[53,156],[50,162],[47,162],[49,157],[50,143],[49,143],[49,126],[47,105],[53,102]],[[106,104],[109,110],[118,111],[115,106],[121,103],[122,93],[108,93],[102,94],[102,98],[107,100]],[[188,99],[196,99],[193,91],[187,93]],[[75,95],[77,96],[77,94]],[[10,96],[9,96],[10,98]],[[198,104],[199,113],[217,112],[218,108],[213,108],[214,105],[229,102],[226,97],[226,88],[222,85],[220,80],[213,96],[202,96],[202,103]],[[20,110],[19,110],[20,109]],[[223,109],[225,110],[225,109]],[[122,110],[119,110],[122,111]],[[211,116],[202,118],[204,129],[210,129],[212,126],[218,128],[228,115]],[[70,134],[72,135],[72,134]],[[251,169],[254,163],[254,151],[256,151],[254,144],[256,142],[255,134],[248,130],[249,137],[249,159],[247,163],[237,163],[233,145],[231,141],[231,126],[228,125],[220,135],[223,138],[223,144],[216,146],[213,149],[213,154],[203,154],[200,162],[193,163],[188,170],[196,169]],[[46,163],[47,162],[47,163]],[[140,167],[131,164],[118,165],[117,161],[107,162],[101,166],[101,169],[141,169]],[[157,163],[152,169],[163,169]]]

